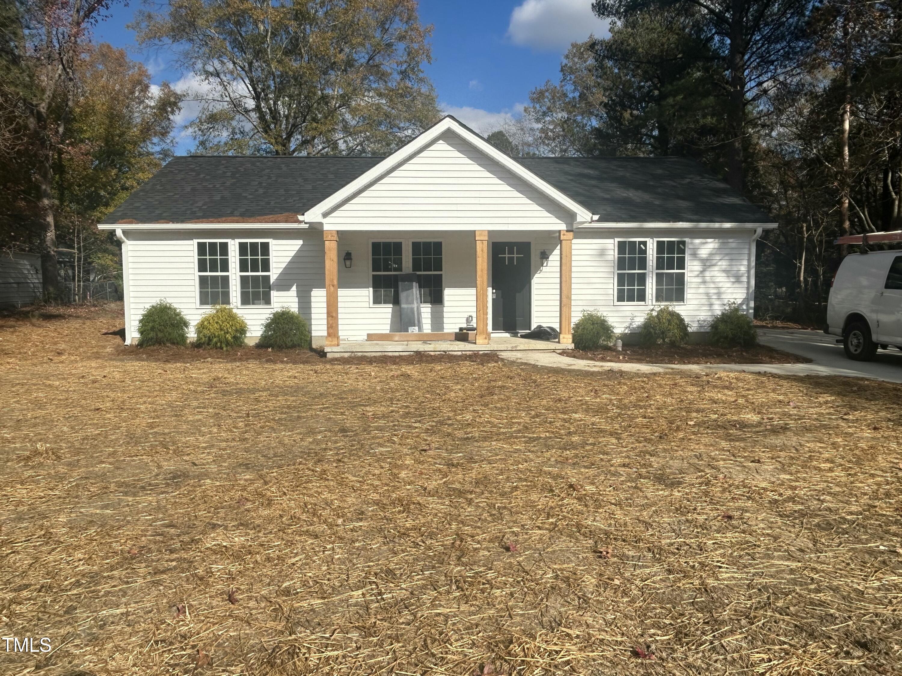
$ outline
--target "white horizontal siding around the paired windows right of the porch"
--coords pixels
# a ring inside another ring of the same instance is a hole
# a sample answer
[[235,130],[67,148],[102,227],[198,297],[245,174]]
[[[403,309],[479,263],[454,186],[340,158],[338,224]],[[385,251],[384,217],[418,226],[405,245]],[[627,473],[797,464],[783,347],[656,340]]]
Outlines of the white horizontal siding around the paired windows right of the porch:
[[[654,239],[686,240],[686,303],[674,307],[690,331],[706,331],[730,301],[745,307],[748,296],[749,244],[752,231],[578,231],[573,242],[573,320],[585,310],[598,310],[618,333],[638,331],[654,298]],[[615,239],[649,240],[649,303],[614,302]]]

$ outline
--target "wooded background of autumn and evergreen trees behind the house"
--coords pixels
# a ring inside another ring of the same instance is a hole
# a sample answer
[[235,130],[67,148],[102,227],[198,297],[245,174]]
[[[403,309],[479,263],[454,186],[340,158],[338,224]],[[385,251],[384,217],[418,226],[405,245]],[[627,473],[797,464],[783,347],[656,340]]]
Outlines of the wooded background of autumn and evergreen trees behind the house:
[[[171,156],[393,151],[440,116],[416,0],[172,0],[133,29],[197,91],[152,86],[90,29],[112,0],[0,7],[0,247],[60,248],[114,278],[97,220]],[[756,313],[816,323],[845,251],[902,229],[902,0],[595,0],[610,36],[574,43],[523,116],[477,130],[511,155],[695,158],[771,215]],[[80,243],[79,243],[80,242]]]

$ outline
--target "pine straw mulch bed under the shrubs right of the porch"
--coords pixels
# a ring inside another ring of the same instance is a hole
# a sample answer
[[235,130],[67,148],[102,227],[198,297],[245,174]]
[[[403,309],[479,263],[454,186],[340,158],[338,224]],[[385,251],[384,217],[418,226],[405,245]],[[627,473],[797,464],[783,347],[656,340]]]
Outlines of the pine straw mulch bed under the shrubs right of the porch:
[[567,350],[566,357],[589,361],[630,361],[641,364],[797,364],[811,361],[807,357],[775,350],[767,345],[749,348],[715,347],[713,345],[624,345],[616,350]]

